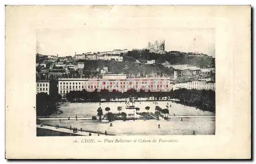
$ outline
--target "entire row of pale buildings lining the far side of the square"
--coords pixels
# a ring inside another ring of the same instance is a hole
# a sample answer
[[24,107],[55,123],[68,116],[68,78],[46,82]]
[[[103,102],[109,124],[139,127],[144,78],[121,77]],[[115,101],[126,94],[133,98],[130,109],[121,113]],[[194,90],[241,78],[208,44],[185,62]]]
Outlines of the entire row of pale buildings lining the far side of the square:
[[127,86],[135,90],[171,91],[180,88],[197,90],[215,90],[215,83],[207,80],[187,81],[174,84],[168,77],[129,77],[124,74],[105,74],[101,78],[59,78],[57,85],[51,85],[49,80],[37,81],[37,93],[49,94],[50,88],[57,88],[58,94],[65,96],[70,91],[82,91],[84,89],[94,91],[96,89],[113,89],[125,92]]

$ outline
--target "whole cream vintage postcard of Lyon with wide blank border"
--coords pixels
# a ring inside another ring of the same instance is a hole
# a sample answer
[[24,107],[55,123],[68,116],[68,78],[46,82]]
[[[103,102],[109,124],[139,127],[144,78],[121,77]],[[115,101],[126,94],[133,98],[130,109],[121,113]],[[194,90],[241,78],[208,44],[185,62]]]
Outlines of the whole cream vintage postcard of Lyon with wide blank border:
[[249,159],[250,14],[6,6],[6,158]]

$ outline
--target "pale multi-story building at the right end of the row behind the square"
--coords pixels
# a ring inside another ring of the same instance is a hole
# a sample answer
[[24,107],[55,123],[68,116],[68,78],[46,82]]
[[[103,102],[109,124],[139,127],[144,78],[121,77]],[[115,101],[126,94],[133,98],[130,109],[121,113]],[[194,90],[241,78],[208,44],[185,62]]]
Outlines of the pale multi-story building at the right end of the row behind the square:
[[186,83],[178,83],[173,86],[173,90],[180,88],[215,91],[215,83],[213,81],[196,80],[188,81]]

